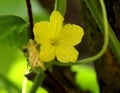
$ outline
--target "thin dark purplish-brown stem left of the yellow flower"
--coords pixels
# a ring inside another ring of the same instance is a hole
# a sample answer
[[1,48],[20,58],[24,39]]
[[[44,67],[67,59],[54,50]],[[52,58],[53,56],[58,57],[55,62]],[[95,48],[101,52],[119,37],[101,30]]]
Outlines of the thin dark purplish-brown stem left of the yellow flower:
[[30,23],[30,37],[34,39],[33,35],[33,15],[32,15],[32,6],[30,3],[30,0],[26,0],[26,5],[27,5],[27,11],[28,11],[28,17],[29,17],[29,23]]

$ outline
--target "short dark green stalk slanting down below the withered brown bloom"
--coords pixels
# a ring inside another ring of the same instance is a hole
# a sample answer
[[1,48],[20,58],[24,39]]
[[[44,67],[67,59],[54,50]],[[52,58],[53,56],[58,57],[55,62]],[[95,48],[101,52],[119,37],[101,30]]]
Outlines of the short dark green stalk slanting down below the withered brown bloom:
[[43,80],[44,80],[44,72],[38,73],[34,79],[34,84],[29,93],[36,93],[38,87],[42,84]]

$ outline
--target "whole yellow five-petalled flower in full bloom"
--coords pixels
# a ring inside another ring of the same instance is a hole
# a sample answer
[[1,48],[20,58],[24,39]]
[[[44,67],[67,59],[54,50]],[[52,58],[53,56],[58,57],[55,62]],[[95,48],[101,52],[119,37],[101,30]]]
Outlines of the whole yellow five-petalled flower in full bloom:
[[57,58],[60,62],[75,62],[78,51],[75,45],[81,42],[83,29],[75,24],[63,26],[63,17],[58,11],[53,11],[50,22],[41,21],[34,25],[35,41],[40,44],[39,58],[50,62]]

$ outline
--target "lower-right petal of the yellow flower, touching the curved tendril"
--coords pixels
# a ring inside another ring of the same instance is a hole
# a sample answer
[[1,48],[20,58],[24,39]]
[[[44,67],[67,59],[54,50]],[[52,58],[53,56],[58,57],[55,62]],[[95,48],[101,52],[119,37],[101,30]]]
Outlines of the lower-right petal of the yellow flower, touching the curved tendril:
[[78,51],[72,46],[61,45],[56,47],[57,60],[63,63],[75,62],[78,54]]

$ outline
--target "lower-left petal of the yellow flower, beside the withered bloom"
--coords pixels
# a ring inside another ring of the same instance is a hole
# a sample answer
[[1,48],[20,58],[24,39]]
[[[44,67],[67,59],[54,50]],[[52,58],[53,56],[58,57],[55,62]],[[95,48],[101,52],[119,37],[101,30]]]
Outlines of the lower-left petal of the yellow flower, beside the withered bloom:
[[39,58],[43,62],[49,62],[55,59],[55,48],[50,44],[45,44],[40,47]]

